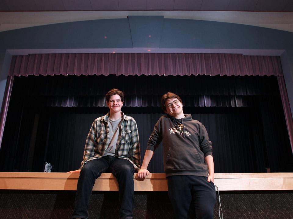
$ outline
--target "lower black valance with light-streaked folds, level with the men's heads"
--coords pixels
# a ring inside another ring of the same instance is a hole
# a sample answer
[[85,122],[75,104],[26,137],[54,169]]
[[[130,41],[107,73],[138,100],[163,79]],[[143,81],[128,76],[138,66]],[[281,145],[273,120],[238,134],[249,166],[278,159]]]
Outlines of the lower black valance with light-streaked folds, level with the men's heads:
[[[251,107],[255,96],[180,95],[185,107]],[[161,96],[128,95],[125,107],[161,107]],[[105,96],[31,96],[26,106],[37,107],[107,107]]]

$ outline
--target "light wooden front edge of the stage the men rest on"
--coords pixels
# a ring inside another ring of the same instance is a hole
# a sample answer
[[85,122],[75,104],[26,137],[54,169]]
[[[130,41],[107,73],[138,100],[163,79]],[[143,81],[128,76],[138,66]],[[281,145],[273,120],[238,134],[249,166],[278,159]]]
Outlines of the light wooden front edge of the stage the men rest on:
[[[0,172],[0,189],[76,190],[79,173]],[[165,173],[153,173],[147,179],[133,177],[135,191],[168,191]],[[293,173],[215,173],[219,191],[292,190]],[[117,191],[111,173],[96,179],[95,191]]]

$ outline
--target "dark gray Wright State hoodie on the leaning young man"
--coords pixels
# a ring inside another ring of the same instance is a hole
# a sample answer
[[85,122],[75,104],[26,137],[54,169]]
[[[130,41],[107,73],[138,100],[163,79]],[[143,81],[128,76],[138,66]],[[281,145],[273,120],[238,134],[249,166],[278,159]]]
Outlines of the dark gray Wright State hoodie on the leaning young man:
[[208,176],[204,158],[212,155],[212,142],[204,125],[191,115],[183,119],[162,116],[151,134],[147,149],[154,151],[161,141],[164,146],[166,177],[175,175]]

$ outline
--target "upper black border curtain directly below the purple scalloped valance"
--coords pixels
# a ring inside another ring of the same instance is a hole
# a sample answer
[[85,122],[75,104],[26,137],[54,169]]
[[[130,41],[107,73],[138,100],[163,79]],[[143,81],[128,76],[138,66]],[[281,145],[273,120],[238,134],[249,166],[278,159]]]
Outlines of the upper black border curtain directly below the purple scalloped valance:
[[[21,79],[20,79],[21,78]],[[104,96],[110,89],[121,89],[126,96],[162,95],[172,91],[180,95],[252,96],[274,95],[272,76],[27,76],[16,77],[14,88],[29,96]],[[20,83],[21,80],[21,83]],[[105,105],[106,106],[106,105]]]

